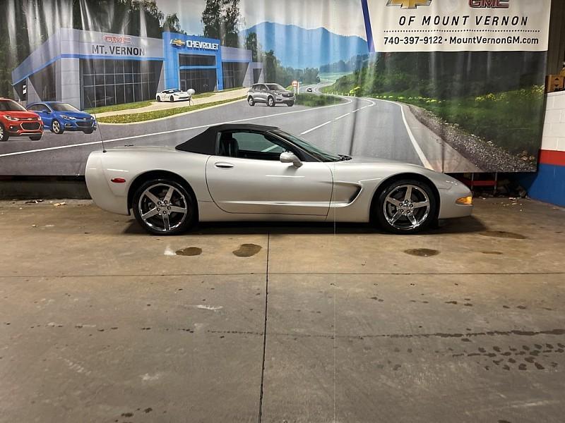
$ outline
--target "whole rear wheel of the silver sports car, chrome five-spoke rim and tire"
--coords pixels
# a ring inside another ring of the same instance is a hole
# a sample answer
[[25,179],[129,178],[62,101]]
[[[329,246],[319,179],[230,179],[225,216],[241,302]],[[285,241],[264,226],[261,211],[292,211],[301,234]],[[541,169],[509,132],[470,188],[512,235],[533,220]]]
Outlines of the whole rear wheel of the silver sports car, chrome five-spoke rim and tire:
[[133,215],[145,231],[177,235],[196,224],[194,195],[175,180],[155,179],[143,183],[133,195]]

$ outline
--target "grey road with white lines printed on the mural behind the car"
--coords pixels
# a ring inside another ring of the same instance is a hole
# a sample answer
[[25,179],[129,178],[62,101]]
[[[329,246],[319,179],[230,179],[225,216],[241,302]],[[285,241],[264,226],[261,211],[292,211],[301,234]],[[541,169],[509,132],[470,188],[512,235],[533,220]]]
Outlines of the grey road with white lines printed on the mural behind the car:
[[[314,87],[317,90],[319,87]],[[436,170],[442,170],[443,162],[467,170],[474,167],[455,152],[450,153],[448,146],[427,140],[420,128],[423,125],[410,123],[407,114],[400,104],[355,97],[344,97],[341,104],[317,108],[251,107],[239,101],[157,121],[101,124],[100,130],[91,135],[55,135],[46,131],[42,140],[36,142],[11,138],[0,143],[0,175],[83,175],[88,154],[101,149],[101,136],[107,148],[175,146],[209,125],[228,122],[275,125],[338,154],[396,159]],[[446,158],[446,154],[453,157]]]

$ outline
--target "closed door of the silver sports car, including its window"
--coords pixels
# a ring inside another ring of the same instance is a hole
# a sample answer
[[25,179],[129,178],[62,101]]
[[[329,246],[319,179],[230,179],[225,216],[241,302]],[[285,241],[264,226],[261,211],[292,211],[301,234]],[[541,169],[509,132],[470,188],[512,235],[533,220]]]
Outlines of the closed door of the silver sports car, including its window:
[[251,131],[221,133],[219,143],[218,154],[206,163],[206,181],[220,209],[238,214],[327,216],[333,184],[327,164],[281,163],[282,152],[299,152],[277,137]]

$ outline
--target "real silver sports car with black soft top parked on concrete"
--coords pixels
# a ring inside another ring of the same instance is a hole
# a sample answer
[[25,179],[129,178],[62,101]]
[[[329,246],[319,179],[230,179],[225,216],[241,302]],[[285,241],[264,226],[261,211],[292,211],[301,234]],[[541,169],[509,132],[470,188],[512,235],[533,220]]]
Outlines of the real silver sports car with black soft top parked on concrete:
[[279,128],[218,125],[177,147],[93,152],[86,183],[95,203],[173,235],[198,221],[376,222],[416,233],[469,216],[458,180],[412,164],[335,155]]

